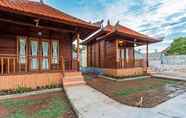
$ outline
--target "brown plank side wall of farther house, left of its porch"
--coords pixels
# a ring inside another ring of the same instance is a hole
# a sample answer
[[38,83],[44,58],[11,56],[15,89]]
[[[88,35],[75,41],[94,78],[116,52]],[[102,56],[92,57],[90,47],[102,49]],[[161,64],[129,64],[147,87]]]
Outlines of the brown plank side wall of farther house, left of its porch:
[[115,41],[99,41],[87,45],[89,67],[113,68],[116,66]]

